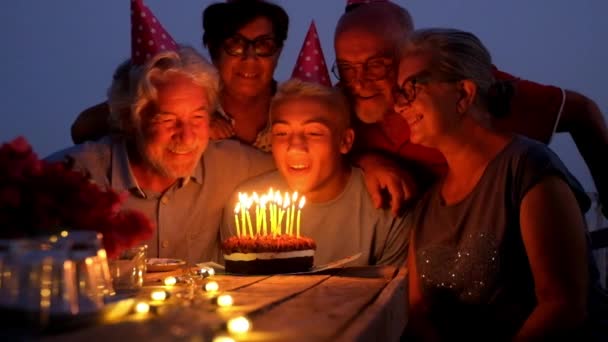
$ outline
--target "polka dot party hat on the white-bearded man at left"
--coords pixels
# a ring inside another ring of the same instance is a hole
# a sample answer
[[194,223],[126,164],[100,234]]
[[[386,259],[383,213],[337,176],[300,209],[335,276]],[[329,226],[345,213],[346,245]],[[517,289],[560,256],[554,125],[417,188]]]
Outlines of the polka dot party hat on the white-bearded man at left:
[[177,44],[143,0],[131,0],[131,61],[143,65],[161,51],[177,50]]

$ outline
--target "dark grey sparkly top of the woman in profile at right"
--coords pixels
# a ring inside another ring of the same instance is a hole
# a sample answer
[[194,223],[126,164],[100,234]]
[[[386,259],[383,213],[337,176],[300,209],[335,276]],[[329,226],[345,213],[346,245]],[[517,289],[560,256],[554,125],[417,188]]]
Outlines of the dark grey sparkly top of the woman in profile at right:
[[[548,175],[561,177],[586,210],[588,198],[557,155],[519,136],[462,201],[445,205],[438,183],[418,203],[412,215],[416,267],[440,331],[452,337],[458,332],[513,336],[531,313],[534,281],[519,211],[526,193]],[[597,281],[591,283],[592,298],[601,296]]]

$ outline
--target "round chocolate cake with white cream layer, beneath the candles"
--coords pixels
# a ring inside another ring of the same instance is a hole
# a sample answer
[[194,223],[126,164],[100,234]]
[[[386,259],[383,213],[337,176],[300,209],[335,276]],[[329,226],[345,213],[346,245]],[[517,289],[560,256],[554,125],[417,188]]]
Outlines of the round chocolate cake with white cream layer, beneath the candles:
[[312,268],[316,244],[294,235],[232,236],[222,243],[226,272],[277,274]]

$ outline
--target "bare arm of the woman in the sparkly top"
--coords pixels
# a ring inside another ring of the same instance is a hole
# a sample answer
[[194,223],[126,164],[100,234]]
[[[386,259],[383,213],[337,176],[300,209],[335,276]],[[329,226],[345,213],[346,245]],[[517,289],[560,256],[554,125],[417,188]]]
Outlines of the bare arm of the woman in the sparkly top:
[[557,176],[525,195],[521,235],[537,305],[516,340],[542,340],[572,331],[585,319],[588,265],[585,225],[574,194]]

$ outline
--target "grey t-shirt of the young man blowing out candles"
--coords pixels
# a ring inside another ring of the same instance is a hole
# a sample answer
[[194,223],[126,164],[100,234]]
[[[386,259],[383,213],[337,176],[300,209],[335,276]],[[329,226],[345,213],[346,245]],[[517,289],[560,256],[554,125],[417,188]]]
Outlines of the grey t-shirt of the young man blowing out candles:
[[[262,194],[270,187],[291,193],[278,171],[245,182],[237,192]],[[236,235],[236,203],[235,193],[224,210],[222,239]],[[361,169],[352,168],[344,191],[335,199],[325,203],[307,202],[301,219],[301,234],[313,238],[317,244],[315,265],[359,252],[361,256],[349,266],[402,265],[405,261],[409,238],[406,219],[394,217],[389,210],[374,208]]]

